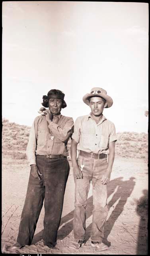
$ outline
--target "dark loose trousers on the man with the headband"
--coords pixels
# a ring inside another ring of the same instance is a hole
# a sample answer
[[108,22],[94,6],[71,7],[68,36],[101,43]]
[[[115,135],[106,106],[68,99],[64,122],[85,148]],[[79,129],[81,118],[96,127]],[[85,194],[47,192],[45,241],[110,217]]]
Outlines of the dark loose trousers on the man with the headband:
[[17,242],[30,245],[34,236],[44,200],[45,217],[43,240],[45,244],[55,243],[60,225],[64,191],[70,166],[67,158],[46,158],[37,156],[37,166],[43,174],[41,180],[31,173],[27,195],[23,206]]

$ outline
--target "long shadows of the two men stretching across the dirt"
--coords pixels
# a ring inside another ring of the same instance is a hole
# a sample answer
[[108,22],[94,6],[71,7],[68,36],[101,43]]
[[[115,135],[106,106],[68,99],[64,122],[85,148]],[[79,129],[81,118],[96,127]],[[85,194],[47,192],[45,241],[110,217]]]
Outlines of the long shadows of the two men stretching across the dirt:
[[[110,209],[115,202],[117,202],[117,205],[115,206],[115,209],[107,219],[105,223],[105,233],[104,233],[104,242],[110,246],[110,242],[107,241],[107,237],[109,236],[113,225],[115,224],[115,221],[123,211],[123,207],[127,202],[127,198],[131,195],[131,192],[134,188],[135,182],[134,182],[134,177],[131,177],[129,180],[122,180],[123,177],[116,178],[114,180],[111,180],[107,186],[107,194],[108,197],[113,194],[115,189],[117,188],[117,191],[113,195],[111,201],[108,203],[108,208]],[[86,219],[88,219],[92,215],[92,210],[93,210],[93,196],[90,196],[88,198],[88,204],[86,208]],[[74,210],[66,214],[64,217],[61,218],[60,226],[62,226],[58,230],[58,235],[57,239],[64,239],[67,237],[70,232],[73,230],[73,218],[74,218]],[[92,228],[92,223],[86,228],[86,241],[89,240],[91,236],[91,228]],[[39,240],[42,239],[42,234],[43,230],[36,234],[33,238],[32,244],[36,244]]]

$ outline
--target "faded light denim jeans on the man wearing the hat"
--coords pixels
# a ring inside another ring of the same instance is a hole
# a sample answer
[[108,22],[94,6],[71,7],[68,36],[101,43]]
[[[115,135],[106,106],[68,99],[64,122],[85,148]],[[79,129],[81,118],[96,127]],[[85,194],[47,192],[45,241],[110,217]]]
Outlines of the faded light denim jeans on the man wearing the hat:
[[75,209],[74,209],[74,238],[84,240],[86,234],[86,206],[90,182],[93,194],[93,219],[91,240],[101,242],[104,237],[104,224],[108,214],[107,185],[101,184],[101,178],[107,170],[107,159],[92,159],[78,156],[78,166],[84,165],[82,179],[75,182]]

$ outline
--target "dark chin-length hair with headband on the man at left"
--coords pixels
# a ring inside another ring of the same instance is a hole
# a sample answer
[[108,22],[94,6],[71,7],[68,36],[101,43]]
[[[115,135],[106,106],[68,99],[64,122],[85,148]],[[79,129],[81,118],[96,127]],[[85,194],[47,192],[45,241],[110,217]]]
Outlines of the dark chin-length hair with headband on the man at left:
[[45,108],[48,108],[49,107],[49,99],[51,98],[52,95],[57,95],[58,98],[60,100],[62,100],[62,108],[66,108],[67,104],[66,102],[64,101],[64,93],[61,92],[60,90],[56,90],[56,89],[52,89],[48,92],[47,96],[46,95],[43,95],[43,102],[42,102],[42,105],[45,107]]

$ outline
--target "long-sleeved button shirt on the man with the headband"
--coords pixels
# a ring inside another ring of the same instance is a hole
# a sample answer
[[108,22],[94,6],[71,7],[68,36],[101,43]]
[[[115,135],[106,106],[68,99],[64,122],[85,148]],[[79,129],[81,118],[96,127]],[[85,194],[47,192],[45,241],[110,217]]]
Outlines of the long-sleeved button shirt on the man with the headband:
[[73,132],[74,121],[61,114],[48,125],[46,116],[37,116],[31,127],[27,144],[29,164],[36,164],[36,155],[68,156],[67,142]]

